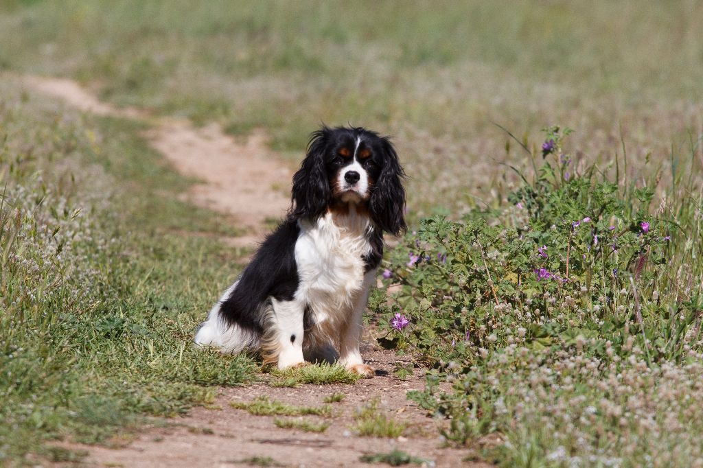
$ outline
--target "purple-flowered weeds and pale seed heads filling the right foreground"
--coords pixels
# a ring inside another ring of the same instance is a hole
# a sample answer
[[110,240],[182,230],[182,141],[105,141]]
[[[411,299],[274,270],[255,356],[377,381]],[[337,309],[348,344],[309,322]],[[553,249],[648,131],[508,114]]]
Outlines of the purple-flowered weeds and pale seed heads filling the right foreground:
[[372,301],[382,343],[434,367],[410,395],[451,417],[447,438],[500,432],[506,466],[698,463],[703,268],[684,262],[701,200],[595,167],[567,177],[569,131],[547,133],[534,180],[508,197],[521,208],[425,219],[392,252],[401,290]]

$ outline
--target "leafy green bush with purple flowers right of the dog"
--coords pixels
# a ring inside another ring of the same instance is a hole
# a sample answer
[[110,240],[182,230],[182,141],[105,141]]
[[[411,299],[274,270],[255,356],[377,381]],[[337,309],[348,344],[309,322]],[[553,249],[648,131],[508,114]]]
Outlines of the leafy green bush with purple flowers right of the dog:
[[[508,197],[515,207],[472,211],[460,221],[432,216],[394,249],[390,281],[401,288],[392,307],[377,303],[375,311],[382,327],[399,312],[412,325],[389,331],[386,346],[417,349],[443,369],[520,342],[541,349],[588,342],[605,356],[602,343],[619,346],[636,329],[637,301],[666,274],[669,241],[659,229],[667,224],[647,214],[654,190],[633,188],[625,199],[593,168],[574,174],[564,148],[571,130],[545,131],[543,152],[555,160]],[[654,358],[678,356],[666,345],[676,332],[660,316],[645,318],[647,339],[659,337],[659,348],[669,350]]]

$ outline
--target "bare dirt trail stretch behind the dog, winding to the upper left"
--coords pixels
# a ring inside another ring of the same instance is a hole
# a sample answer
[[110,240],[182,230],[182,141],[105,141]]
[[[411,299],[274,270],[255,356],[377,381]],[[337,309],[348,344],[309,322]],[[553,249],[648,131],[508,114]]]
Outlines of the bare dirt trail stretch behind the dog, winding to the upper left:
[[255,245],[268,219],[280,219],[289,206],[292,167],[282,164],[266,146],[266,134],[254,131],[238,141],[218,124],[196,127],[188,120],[156,118],[146,110],[103,103],[70,79],[25,77],[35,91],[63,99],[96,115],[139,119],[150,124],[144,136],[181,174],[197,178],[186,196],[195,204],[234,216],[246,234],[228,242]]

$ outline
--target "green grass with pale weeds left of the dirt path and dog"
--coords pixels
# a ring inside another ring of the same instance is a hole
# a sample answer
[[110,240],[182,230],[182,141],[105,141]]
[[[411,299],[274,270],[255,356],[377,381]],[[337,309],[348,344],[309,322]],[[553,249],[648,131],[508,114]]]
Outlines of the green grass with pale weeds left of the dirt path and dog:
[[107,441],[252,379],[249,358],[192,345],[237,272],[214,240],[171,233],[226,230],[178,201],[188,181],[139,126],[0,89],[0,460]]

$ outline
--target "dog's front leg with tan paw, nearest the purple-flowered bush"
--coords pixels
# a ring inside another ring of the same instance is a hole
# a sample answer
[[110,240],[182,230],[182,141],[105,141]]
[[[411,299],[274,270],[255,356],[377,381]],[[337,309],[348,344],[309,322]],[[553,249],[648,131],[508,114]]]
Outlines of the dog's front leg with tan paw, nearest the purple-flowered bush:
[[364,275],[361,290],[354,297],[352,313],[340,330],[340,364],[352,372],[366,377],[374,375],[375,371],[370,365],[363,363],[359,345],[361,344],[361,332],[363,332],[363,311],[366,309],[368,292],[375,278],[375,270]]

